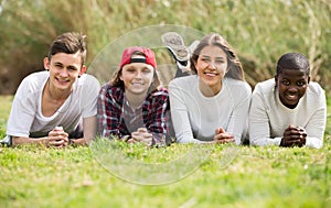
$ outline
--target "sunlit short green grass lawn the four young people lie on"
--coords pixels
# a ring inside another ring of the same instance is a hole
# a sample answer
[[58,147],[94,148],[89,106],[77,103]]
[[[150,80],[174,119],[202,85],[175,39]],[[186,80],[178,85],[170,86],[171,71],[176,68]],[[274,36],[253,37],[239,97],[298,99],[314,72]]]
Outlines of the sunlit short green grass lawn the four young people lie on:
[[[1,97],[1,136],[11,99]],[[0,207],[331,207],[330,101],[322,149],[213,146],[204,150],[206,158],[199,168],[166,185],[127,182],[137,173],[136,165],[121,169],[124,179],[117,177],[107,160],[98,162],[93,147],[0,147]],[[171,163],[190,152],[203,153],[190,145],[121,149],[131,161],[145,163]],[[226,153],[233,149],[237,152]],[[107,153],[108,161],[120,158],[116,152]],[[226,156],[233,156],[227,165]],[[173,166],[159,171],[178,174]]]

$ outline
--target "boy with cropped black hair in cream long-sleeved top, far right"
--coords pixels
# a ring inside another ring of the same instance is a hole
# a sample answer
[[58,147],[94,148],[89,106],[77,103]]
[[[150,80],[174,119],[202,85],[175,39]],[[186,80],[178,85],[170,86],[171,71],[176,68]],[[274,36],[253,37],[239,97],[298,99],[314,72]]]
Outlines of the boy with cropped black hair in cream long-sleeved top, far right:
[[275,79],[257,84],[249,110],[253,145],[323,145],[327,120],[324,90],[310,81],[310,66],[299,53],[284,54]]

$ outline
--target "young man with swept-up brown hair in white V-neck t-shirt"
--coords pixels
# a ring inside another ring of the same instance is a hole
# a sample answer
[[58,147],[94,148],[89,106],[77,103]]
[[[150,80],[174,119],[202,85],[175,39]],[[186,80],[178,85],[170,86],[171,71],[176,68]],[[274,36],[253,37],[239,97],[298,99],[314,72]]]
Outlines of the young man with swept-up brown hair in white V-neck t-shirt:
[[3,142],[63,147],[94,139],[99,83],[85,74],[84,39],[78,33],[57,36],[44,58],[46,70],[23,79],[14,96]]

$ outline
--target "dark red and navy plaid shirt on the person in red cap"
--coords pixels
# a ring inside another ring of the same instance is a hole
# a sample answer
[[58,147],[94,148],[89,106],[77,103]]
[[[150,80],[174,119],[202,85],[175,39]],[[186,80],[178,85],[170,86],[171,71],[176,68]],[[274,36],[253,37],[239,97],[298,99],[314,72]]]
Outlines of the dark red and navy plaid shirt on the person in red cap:
[[153,144],[164,145],[169,95],[167,89],[151,91],[142,105],[132,109],[120,87],[106,84],[98,96],[98,133],[102,136],[122,139],[145,127],[153,134]]

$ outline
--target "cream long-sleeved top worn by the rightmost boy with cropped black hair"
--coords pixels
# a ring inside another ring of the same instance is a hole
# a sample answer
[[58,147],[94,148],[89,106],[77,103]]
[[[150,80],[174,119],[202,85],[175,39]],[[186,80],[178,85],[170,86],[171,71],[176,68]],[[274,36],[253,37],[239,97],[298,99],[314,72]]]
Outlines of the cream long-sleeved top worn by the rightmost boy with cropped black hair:
[[302,127],[307,131],[306,145],[321,147],[327,122],[324,90],[310,81],[305,96],[295,109],[289,109],[279,100],[275,79],[256,85],[249,110],[249,141],[253,145],[279,145],[285,129],[289,124]]

